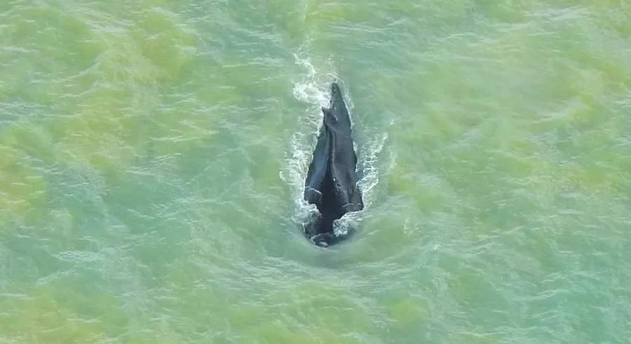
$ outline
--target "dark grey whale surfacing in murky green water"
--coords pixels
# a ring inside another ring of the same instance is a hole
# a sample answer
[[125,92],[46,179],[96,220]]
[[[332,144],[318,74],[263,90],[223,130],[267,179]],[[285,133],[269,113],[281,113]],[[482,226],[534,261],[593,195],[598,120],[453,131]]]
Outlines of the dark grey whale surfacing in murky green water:
[[364,208],[357,186],[357,156],[353,149],[351,118],[337,83],[331,85],[329,108],[322,108],[323,124],[304,182],[304,200],[318,214],[304,225],[304,234],[315,245],[327,247],[343,235],[333,231],[333,221]]

